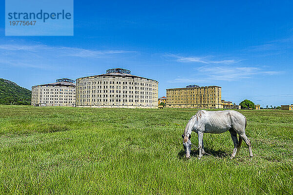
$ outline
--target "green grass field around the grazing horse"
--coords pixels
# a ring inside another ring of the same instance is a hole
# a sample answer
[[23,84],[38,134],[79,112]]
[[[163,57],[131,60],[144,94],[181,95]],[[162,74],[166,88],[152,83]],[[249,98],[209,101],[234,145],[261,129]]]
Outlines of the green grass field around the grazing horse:
[[181,134],[196,112],[0,106],[0,194],[293,194],[293,112],[240,111],[253,158],[243,143],[230,160],[226,132],[187,160]]

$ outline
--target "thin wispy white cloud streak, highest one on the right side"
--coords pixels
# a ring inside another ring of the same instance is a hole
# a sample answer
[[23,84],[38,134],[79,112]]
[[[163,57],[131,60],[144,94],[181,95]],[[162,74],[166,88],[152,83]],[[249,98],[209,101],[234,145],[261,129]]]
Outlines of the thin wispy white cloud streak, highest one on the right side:
[[214,60],[210,59],[210,56],[207,57],[184,57],[184,56],[179,56],[179,55],[173,55],[173,54],[168,54],[165,55],[166,57],[169,58],[175,58],[176,61],[178,62],[200,62],[200,63],[205,63],[205,64],[232,64],[236,63],[239,60],[234,60],[234,59],[220,59],[220,60]]

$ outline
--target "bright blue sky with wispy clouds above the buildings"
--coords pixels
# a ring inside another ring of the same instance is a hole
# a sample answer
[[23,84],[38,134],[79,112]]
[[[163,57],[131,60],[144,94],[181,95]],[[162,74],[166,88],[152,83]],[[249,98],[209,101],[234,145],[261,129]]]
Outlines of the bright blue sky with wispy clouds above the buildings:
[[0,78],[31,86],[121,67],[167,88],[222,87],[222,99],[293,103],[293,1],[74,1],[74,36],[5,36]]

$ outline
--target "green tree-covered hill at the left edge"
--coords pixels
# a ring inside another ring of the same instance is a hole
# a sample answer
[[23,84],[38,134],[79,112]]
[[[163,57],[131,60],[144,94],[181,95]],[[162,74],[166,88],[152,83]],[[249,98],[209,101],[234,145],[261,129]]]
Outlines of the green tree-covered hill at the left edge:
[[31,96],[30,90],[0,78],[0,104],[30,105]]

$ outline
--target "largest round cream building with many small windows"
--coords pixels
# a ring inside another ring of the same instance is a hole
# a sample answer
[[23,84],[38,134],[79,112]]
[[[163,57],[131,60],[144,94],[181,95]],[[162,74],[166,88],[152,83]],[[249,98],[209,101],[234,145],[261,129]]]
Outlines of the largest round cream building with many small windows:
[[158,108],[158,81],[121,68],[76,79],[76,105],[100,108]]

